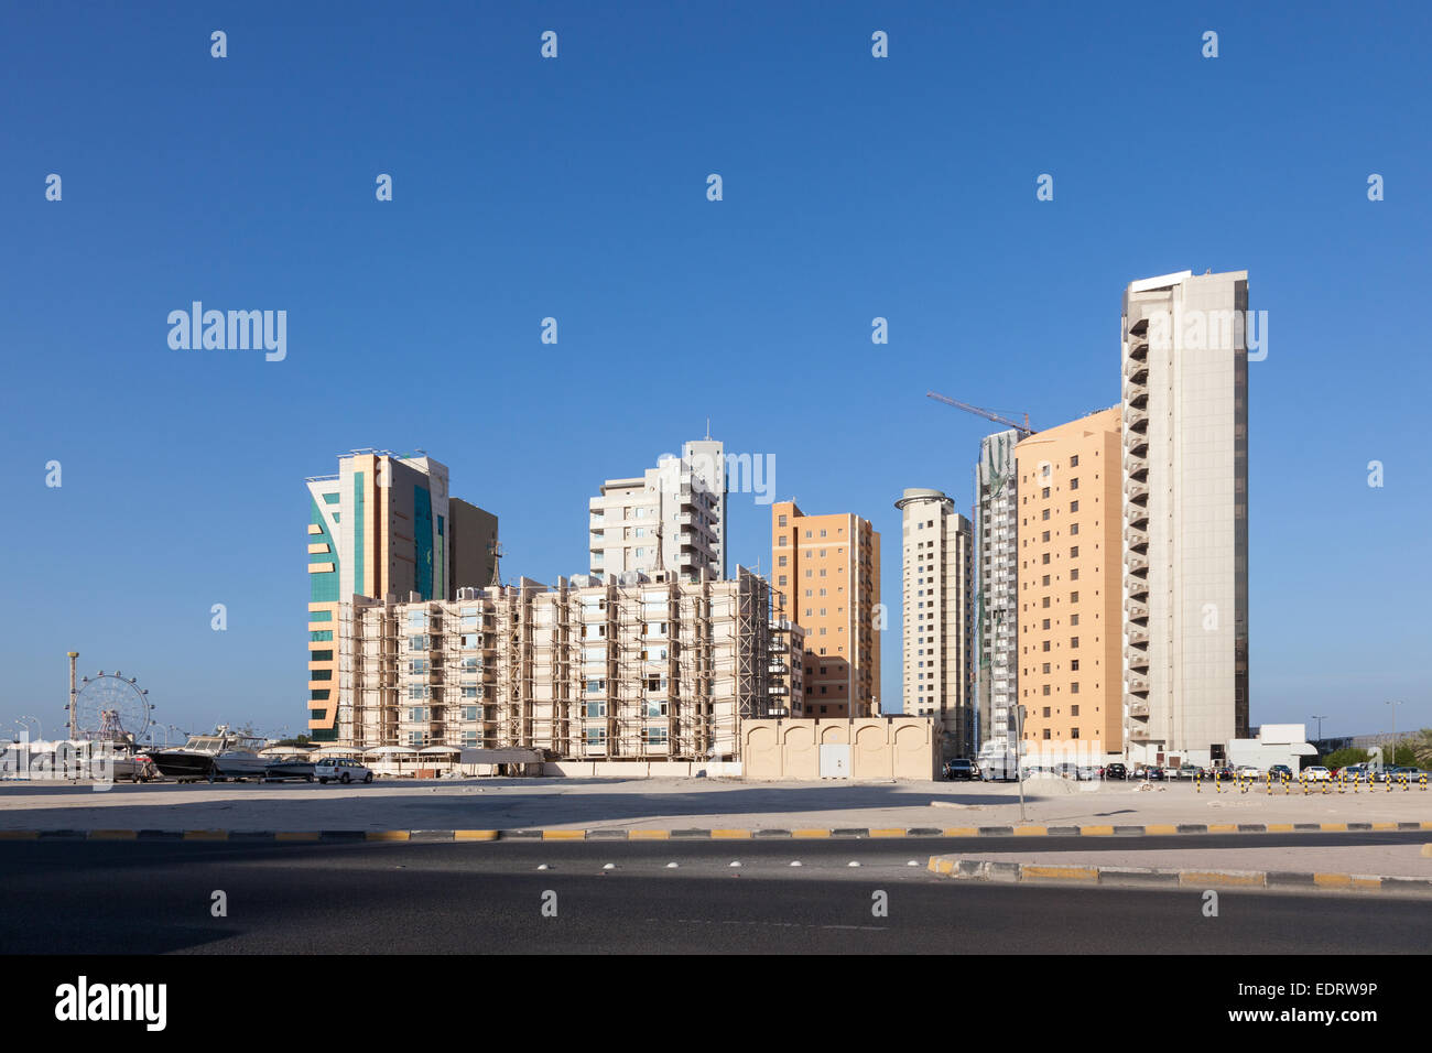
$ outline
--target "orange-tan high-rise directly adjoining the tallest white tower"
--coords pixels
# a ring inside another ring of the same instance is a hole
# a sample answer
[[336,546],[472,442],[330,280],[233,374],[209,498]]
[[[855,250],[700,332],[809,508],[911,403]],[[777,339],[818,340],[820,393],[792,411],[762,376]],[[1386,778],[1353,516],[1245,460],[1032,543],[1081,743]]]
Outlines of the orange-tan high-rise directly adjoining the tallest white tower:
[[1018,479],[1024,755],[1103,761],[1123,751],[1120,408],[1038,431]]

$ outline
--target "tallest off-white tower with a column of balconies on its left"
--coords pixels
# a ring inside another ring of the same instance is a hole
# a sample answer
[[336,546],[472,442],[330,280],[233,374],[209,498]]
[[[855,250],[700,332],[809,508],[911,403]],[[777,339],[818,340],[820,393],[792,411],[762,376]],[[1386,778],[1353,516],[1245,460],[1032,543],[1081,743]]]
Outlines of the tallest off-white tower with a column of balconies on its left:
[[1130,756],[1249,731],[1247,271],[1128,285],[1123,311]]

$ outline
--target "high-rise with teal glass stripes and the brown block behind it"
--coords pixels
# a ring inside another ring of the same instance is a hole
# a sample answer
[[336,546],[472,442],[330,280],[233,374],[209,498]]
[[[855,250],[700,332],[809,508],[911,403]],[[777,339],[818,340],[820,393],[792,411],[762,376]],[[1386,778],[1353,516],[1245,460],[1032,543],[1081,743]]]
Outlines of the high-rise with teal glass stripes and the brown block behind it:
[[332,741],[338,605],[354,596],[442,600],[458,586],[487,585],[497,517],[465,501],[454,516],[447,466],[387,450],[344,454],[338,474],[309,479],[308,493],[308,728]]

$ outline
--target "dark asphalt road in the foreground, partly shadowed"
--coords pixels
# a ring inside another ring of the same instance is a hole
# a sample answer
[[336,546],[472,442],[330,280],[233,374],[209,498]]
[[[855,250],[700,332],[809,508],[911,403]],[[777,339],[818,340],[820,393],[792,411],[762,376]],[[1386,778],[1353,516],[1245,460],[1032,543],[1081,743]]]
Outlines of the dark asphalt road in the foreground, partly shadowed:
[[[1390,844],[1409,835],[1300,837]],[[1203,847],[1295,840],[1197,838]],[[1138,840],[1169,847],[1160,842],[1189,838]],[[0,953],[1327,954],[1428,946],[1425,900],[1221,891],[1219,917],[1209,918],[1196,891],[962,884],[925,870],[931,854],[975,845],[1028,850],[1022,838],[16,842],[0,845]],[[1065,847],[1087,851],[1088,840],[1040,840],[1042,851]],[[226,917],[211,911],[216,890]],[[553,908],[556,917],[543,911]],[[872,910],[876,893],[884,915]]]

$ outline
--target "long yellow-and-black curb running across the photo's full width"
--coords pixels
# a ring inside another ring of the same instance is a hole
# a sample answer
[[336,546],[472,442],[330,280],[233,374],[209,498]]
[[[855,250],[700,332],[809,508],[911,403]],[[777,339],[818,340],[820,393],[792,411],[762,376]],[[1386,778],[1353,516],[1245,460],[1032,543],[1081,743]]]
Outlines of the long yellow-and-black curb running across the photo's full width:
[[1408,832],[1432,831],[1432,822],[1180,822],[1147,827],[838,827],[838,828],[594,828],[594,830],[0,830],[0,841],[750,841],[811,838],[987,838],[987,837],[1179,837],[1197,834],[1309,834],[1309,832]]

